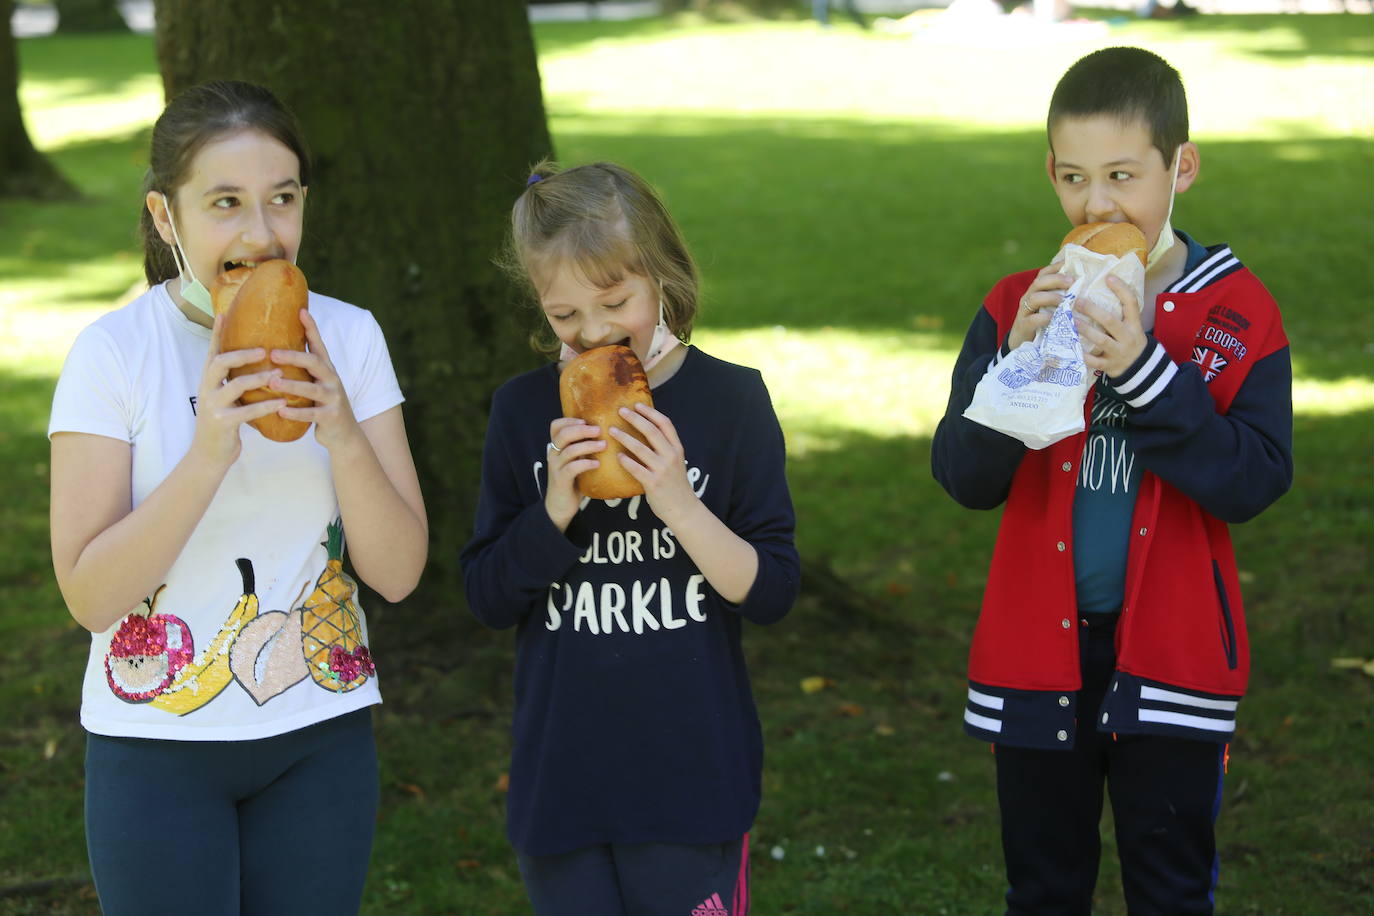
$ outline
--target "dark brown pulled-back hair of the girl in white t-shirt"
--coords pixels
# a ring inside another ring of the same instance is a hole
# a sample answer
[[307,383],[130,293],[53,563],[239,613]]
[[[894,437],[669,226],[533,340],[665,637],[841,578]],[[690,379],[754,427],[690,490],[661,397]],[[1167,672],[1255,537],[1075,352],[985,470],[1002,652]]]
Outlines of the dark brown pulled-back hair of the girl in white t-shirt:
[[295,115],[268,89],[234,80],[202,82],[177,95],[153,125],[148,170],[143,177],[139,235],[143,239],[143,275],[155,286],[180,273],[172,246],[162,240],[144,198],[159,191],[168,206],[185,183],[191,162],[207,143],[239,130],[261,130],[295,154],[301,187],[311,184],[311,154]]

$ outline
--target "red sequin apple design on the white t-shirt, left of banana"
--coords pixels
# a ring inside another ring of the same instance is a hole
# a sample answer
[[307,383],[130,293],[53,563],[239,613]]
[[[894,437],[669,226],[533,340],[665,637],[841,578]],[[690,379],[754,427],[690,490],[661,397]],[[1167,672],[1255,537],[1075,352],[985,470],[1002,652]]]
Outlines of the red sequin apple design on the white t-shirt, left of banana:
[[195,656],[191,628],[174,614],[155,611],[158,586],[143,608],[120,623],[104,655],[104,678],[115,696],[128,703],[147,703],[166,689]]

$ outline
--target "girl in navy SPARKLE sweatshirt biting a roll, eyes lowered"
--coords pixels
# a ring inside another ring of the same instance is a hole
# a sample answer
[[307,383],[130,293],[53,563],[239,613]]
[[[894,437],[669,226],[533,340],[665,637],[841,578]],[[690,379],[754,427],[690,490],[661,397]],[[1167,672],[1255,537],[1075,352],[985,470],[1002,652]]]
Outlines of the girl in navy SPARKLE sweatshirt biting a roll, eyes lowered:
[[[743,916],[763,739],[741,623],[797,595],[783,437],[756,369],[687,346],[697,271],[672,217],[610,163],[536,166],[508,264],[558,361],[492,400],[469,606],[517,628],[508,836],[534,911]],[[600,430],[565,417],[558,376],[624,343],[654,407],[611,430],[644,486],[588,500]]]

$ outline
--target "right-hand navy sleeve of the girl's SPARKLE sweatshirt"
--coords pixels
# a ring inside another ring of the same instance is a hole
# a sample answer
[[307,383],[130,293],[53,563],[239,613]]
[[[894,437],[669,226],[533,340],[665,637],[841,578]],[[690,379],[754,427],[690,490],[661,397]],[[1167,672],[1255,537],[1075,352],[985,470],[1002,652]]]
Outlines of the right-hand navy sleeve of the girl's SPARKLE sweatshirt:
[[735,455],[736,486],[727,518],[721,520],[758,553],[754,584],[734,610],[754,623],[775,623],[797,599],[801,563],[794,542],[796,515],[787,490],[782,427],[763,378],[750,394]]

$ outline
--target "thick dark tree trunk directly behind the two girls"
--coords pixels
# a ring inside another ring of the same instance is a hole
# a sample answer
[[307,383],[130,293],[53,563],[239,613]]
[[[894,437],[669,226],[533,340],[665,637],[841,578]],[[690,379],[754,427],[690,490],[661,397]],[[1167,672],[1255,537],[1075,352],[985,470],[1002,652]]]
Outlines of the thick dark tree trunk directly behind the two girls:
[[551,154],[525,4],[159,0],[157,23],[169,98],[250,80],[301,119],[315,159],[301,268],[376,314],[407,397],[430,564],[405,617],[449,614],[491,393],[536,364],[536,314],[492,264],[529,166]]

